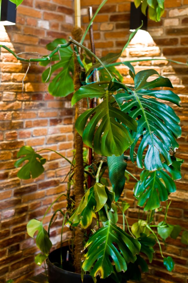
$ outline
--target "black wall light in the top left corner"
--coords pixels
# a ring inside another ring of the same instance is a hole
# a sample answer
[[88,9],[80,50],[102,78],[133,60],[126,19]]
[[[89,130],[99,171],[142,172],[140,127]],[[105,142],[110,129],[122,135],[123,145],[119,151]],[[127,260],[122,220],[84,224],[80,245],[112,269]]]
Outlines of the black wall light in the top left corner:
[[9,0],[1,0],[1,17],[0,24],[15,25],[16,24],[16,4]]

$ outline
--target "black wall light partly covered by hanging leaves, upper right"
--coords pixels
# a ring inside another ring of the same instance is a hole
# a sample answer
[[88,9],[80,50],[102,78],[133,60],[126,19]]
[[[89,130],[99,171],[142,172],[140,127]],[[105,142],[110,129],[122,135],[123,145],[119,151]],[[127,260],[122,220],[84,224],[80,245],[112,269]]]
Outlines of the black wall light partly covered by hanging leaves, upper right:
[[[146,1],[146,0],[145,0]],[[148,9],[146,10],[146,16],[141,11],[141,5],[136,8],[134,2],[130,3],[130,30],[136,30],[143,21],[143,26],[141,27],[142,30],[147,30],[148,24]]]

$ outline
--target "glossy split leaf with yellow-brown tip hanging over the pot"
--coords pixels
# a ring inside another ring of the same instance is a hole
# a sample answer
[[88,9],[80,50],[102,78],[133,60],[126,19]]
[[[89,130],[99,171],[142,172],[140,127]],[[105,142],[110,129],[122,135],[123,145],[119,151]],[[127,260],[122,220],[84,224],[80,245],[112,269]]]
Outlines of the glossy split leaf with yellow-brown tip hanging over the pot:
[[117,272],[127,270],[127,263],[137,259],[140,243],[108,222],[91,236],[84,248],[88,251],[84,255],[83,270],[93,277],[106,278],[113,273],[113,266]]

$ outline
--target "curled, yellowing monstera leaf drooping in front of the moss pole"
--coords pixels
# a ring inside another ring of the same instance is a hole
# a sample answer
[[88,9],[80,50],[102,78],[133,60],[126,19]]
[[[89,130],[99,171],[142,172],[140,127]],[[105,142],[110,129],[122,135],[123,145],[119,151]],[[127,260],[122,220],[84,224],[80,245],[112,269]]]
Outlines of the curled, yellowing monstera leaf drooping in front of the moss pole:
[[93,217],[96,218],[95,212],[101,210],[106,203],[110,206],[113,200],[114,193],[110,192],[104,185],[96,183],[87,190],[80,205],[67,221],[66,226],[78,226],[80,224],[83,229],[87,229],[91,225]]

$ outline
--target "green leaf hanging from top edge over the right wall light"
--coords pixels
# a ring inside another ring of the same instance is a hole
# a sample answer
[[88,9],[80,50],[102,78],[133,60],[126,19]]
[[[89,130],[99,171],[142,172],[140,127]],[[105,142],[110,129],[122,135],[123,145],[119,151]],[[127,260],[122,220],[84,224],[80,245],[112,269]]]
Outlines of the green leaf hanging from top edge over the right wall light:
[[164,13],[164,0],[134,0],[136,8],[141,5],[141,11],[146,15],[146,8],[148,8],[149,18],[153,21],[159,22]]

